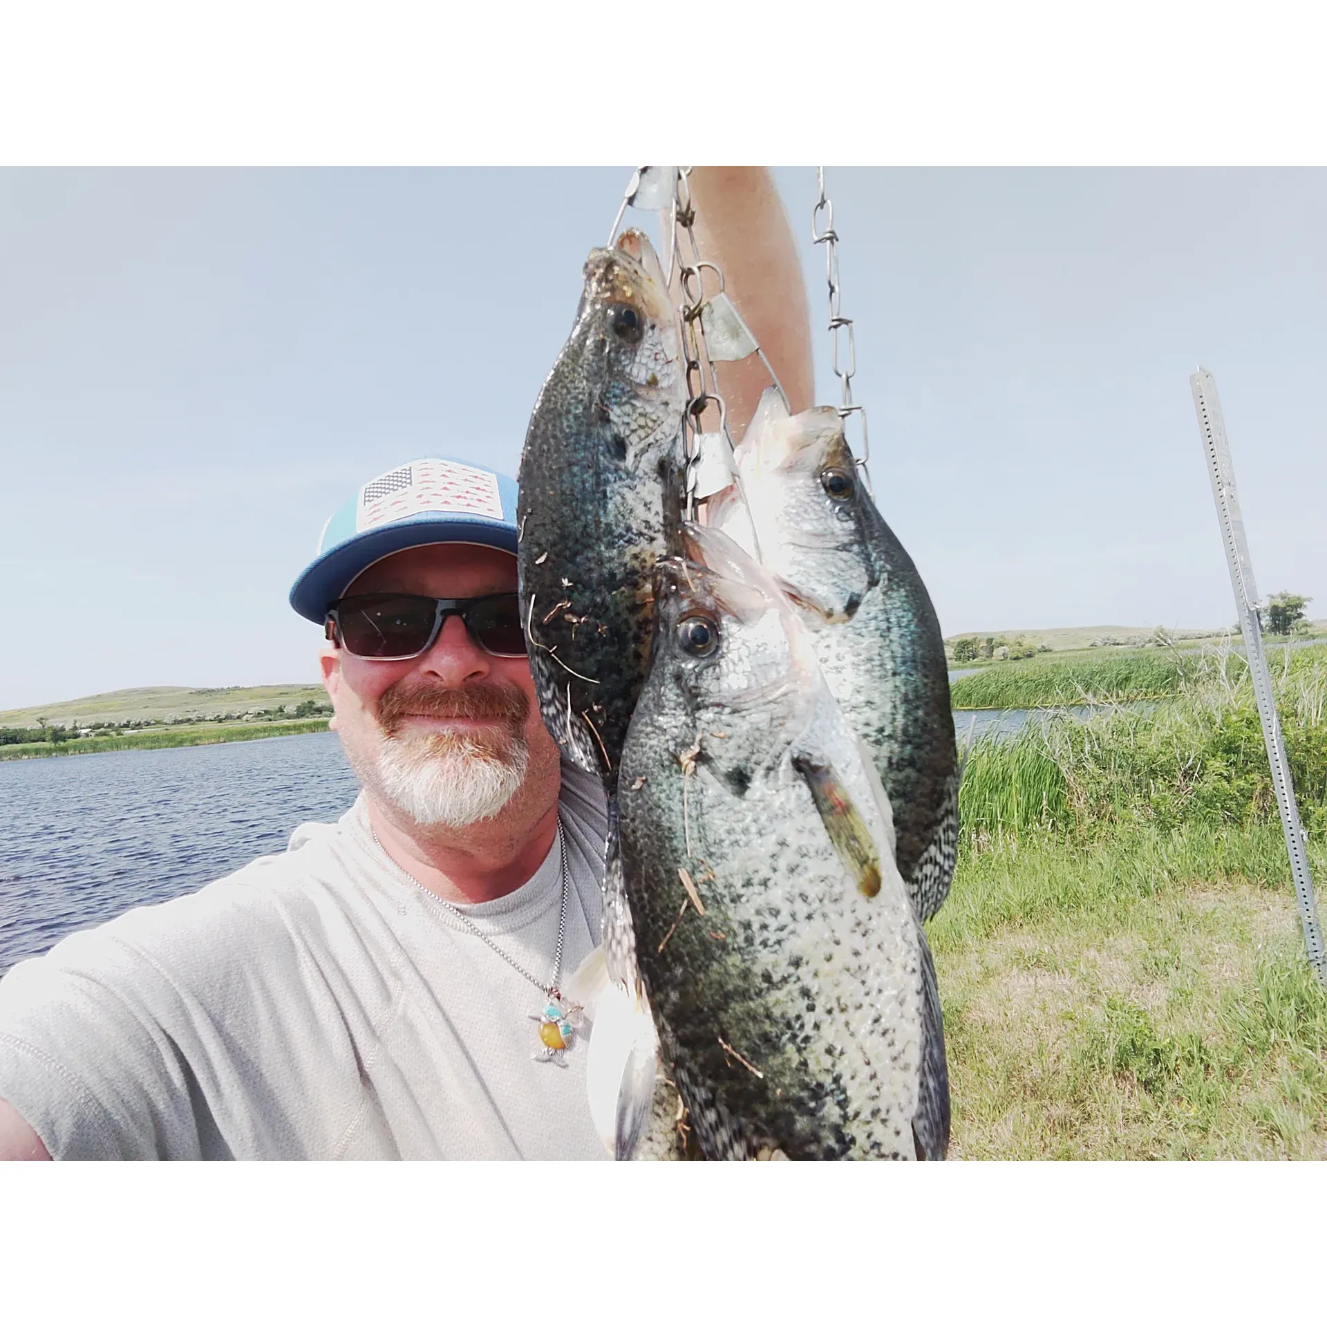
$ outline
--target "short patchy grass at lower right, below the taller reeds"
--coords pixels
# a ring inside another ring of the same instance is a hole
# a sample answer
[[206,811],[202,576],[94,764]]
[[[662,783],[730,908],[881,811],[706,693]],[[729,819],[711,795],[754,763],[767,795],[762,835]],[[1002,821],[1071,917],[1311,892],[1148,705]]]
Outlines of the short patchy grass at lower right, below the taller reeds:
[[965,853],[932,924],[951,1154],[1327,1157],[1287,874],[1273,827]]

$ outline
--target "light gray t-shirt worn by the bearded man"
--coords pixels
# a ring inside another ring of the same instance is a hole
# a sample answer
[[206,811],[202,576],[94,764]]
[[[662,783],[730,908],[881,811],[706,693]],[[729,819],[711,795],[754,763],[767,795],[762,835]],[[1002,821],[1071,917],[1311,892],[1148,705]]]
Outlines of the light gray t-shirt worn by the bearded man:
[[[598,942],[605,809],[563,768],[563,974]],[[466,914],[552,975],[560,861]],[[373,841],[364,798],[198,893],[0,981],[0,1099],[56,1158],[585,1158],[585,1039]]]

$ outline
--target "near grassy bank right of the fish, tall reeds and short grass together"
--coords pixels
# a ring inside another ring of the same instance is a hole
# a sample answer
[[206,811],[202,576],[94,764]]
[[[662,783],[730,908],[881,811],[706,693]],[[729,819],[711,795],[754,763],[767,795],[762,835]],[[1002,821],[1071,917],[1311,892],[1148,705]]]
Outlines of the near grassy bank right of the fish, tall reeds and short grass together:
[[[1318,880],[1324,694],[1320,658],[1281,670]],[[1209,656],[1145,714],[979,742],[961,799],[930,925],[951,1156],[1327,1158],[1327,989],[1241,667]]]

